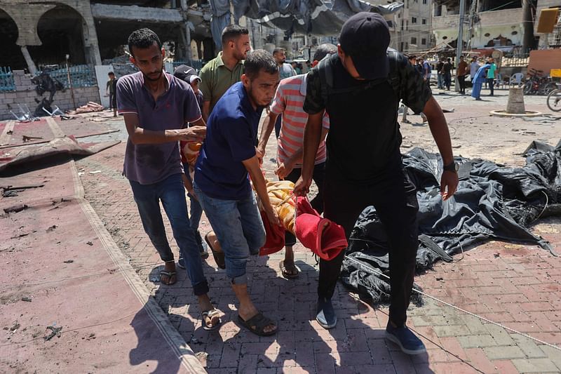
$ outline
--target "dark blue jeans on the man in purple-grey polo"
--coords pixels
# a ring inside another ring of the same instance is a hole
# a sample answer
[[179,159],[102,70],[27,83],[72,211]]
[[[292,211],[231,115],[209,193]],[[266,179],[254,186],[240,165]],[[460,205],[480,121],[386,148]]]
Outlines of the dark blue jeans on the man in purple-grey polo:
[[161,201],[163,210],[170,220],[173,237],[180,248],[181,257],[185,260],[187,275],[191,280],[195,295],[208,293],[201,254],[198,253],[193,230],[189,224],[185,187],[181,174],[170,175],[165,180],[152,185],[141,185],[133,180],[129,182],[133,189],[144,232],[160,254],[160,258],[163,261],[173,261],[173,252],[163,227]]

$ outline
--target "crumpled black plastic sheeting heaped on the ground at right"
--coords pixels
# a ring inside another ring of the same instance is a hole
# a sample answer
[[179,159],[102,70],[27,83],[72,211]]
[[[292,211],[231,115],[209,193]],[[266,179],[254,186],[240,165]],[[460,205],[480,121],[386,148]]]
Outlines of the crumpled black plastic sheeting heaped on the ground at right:
[[[443,202],[440,156],[419,148],[405,154],[405,171],[417,186],[419,201],[418,270],[438,260],[452,261],[452,255],[490,239],[537,244],[556,255],[550,243],[527,227],[539,218],[561,215],[561,140],[555,147],[532,142],[525,156],[523,168],[457,157],[458,190]],[[388,239],[374,207],[360,214],[346,255],[344,285],[365,298],[386,300],[379,281],[386,282],[381,274],[389,275]]]

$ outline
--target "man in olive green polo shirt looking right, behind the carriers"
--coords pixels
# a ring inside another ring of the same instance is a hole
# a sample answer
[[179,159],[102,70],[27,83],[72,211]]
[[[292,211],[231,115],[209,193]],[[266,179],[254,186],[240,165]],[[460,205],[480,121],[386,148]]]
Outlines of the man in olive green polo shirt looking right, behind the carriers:
[[201,86],[205,101],[203,119],[208,120],[212,108],[231,85],[241,80],[243,62],[251,50],[248,29],[228,25],[222,31],[222,52],[201,69]]

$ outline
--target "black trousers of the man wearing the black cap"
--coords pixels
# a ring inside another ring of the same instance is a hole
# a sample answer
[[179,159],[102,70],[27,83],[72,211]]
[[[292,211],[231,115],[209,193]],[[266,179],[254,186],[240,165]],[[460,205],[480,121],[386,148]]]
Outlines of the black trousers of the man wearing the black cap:
[[[358,215],[373,205],[388,233],[390,251],[390,319],[398,326],[407,320],[407,307],[413,287],[417,257],[418,222],[415,187],[403,171],[401,155],[393,156],[384,171],[373,182],[359,185],[332,172],[329,163],[323,192],[324,217],[345,229],[347,239]],[[344,259],[345,251],[331,261],[320,260],[318,296],[331,298]]]

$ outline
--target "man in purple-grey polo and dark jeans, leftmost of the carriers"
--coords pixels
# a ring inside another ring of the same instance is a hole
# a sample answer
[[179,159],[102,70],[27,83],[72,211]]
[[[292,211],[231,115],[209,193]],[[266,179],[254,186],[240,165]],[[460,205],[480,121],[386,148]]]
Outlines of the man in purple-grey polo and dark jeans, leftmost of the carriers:
[[[175,260],[165,236],[160,201],[173,237],[187,265],[187,274],[201,307],[203,328],[218,328],[219,311],[208,297],[201,255],[187,215],[182,165],[177,142],[202,141],[205,122],[189,84],[163,72],[165,51],[150,29],[128,37],[130,62],[140,72],[119,79],[117,107],[128,132],[123,175],[130,182],[144,231],[165,262],[161,282],[177,281]],[[184,123],[193,126],[183,128]]]

